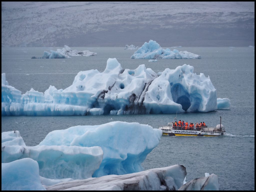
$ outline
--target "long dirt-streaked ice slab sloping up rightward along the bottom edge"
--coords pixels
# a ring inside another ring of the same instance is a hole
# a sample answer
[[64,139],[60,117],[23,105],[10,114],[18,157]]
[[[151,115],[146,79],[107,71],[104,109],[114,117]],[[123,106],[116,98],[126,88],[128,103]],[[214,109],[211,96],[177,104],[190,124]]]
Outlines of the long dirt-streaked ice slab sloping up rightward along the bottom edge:
[[47,190],[178,190],[183,185],[186,175],[184,166],[173,165],[126,175],[74,180],[45,188]]

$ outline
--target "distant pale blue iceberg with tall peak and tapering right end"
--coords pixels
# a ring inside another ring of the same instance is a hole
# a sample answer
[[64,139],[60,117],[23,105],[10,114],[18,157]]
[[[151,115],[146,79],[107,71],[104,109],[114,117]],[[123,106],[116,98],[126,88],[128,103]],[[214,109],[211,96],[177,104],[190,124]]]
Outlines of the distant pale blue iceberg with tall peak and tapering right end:
[[150,40],[135,51],[131,59],[201,59],[201,56],[188,51],[163,49],[156,41]]

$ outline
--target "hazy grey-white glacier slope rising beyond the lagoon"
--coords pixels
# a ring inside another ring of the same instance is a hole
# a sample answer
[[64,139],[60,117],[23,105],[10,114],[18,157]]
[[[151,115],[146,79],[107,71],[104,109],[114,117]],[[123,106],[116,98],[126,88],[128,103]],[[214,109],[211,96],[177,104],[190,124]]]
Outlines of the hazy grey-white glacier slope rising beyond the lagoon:
[[254,46],[254,2],[2,2],[2,47]]

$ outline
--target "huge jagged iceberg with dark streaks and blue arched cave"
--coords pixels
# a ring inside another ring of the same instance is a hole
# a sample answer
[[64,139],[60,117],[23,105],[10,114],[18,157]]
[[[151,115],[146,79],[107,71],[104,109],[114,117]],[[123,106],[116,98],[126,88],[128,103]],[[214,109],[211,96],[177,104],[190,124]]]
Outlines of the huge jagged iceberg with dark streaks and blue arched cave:
[[145,65],[122,69],[109,58],[103,72],[80,71],[64,90],[50,86],[44,93],[31,88],[24,94],[2,73],[2,116],[209,112],[218,109],[217,102],[220,106],[210,78],[186,64],[155,73]]

